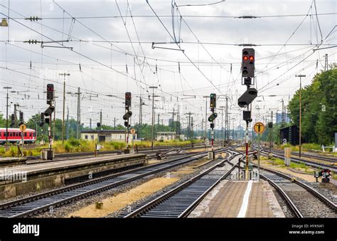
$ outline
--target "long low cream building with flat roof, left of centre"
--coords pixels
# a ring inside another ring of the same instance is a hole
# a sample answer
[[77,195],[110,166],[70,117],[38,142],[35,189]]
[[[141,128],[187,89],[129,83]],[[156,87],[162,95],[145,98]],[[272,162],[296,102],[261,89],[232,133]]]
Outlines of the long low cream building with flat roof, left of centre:
[[[125,141],[125,131],[124,130],[87,130],[81,132],[81,139],[84,140],[97,140],[99,141]],[[131,134],[129,132],[129,139],[137,139],[137,133]]]

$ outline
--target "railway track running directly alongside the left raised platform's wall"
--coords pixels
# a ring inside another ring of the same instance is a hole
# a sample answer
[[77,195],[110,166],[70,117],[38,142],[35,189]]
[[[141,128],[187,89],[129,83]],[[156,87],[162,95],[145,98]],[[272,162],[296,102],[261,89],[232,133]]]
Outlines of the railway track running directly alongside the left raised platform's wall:
[[[224,151],[224,149],[216,150],[217,153],[221,151]],[[181,166],[191,161],[196,161],[206,155],[207,151],[204,151],[201,154],[190,154],[188,156],[164,161],[159,164],[135,168],[129,171],[123,171],[122,173],[116,173],[102,178],[95,178],[90,181],[65,186],[53,191],[47,191],[34,196],[28,196],[27,198],[3,203],[0,205],[0,217],[18,218],[43,213],[60,205],[65,205],[111,188],[117,188],[125,183],[136,181],[140,178],[165,171],[169,168]]]

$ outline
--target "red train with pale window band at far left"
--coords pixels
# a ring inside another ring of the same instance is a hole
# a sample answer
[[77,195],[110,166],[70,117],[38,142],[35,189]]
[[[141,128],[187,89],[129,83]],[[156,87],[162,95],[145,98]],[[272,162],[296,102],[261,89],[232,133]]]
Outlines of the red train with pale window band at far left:
[[[21,140],[21,131],[18,128],[8,129],[8,141],[16,142]],[[26,129],[23,133],[23,140],[25,143],[34,143],[36,141],[36,132],[33,129]],[[0,128],[0,144],[6,142],[6,128]]]

